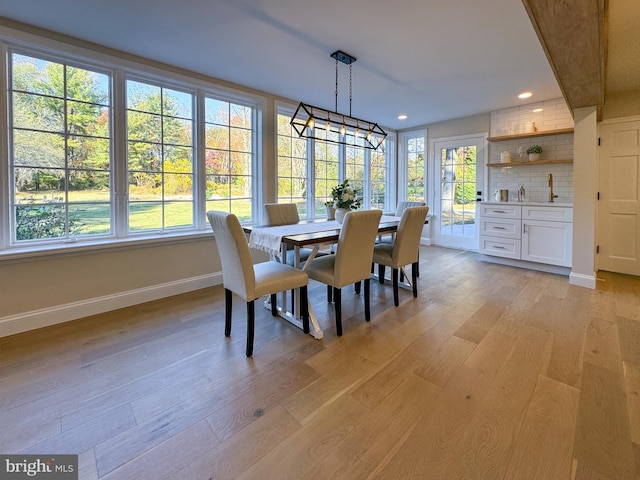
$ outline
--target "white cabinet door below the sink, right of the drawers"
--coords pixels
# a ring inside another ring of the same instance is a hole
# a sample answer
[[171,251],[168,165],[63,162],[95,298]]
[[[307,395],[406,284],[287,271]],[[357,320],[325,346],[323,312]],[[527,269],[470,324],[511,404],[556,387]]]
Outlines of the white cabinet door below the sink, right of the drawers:
[[571,266],[573,209],[567,207],[522,207],[521,259]]

